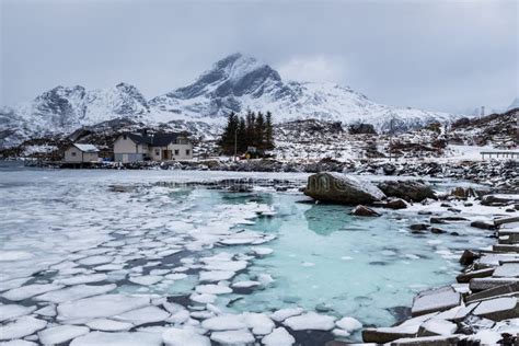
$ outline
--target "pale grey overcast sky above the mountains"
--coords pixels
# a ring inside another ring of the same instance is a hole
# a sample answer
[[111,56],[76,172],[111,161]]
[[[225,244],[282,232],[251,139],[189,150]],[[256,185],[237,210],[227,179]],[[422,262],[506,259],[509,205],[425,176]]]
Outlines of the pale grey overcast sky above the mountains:
[[151,99],[235,51],[391,105],[461,112],[519,96],[516,0],[0,2],[0,105],[120,81]]

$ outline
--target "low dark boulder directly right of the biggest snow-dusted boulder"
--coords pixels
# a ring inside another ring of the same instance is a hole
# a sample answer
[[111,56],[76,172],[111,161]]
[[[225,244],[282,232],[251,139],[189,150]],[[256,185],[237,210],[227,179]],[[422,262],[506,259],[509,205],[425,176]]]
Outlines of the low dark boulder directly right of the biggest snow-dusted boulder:
[[385,181],[377,185],[388,197],[422,201],[436,199],[435,192],[420,181]]

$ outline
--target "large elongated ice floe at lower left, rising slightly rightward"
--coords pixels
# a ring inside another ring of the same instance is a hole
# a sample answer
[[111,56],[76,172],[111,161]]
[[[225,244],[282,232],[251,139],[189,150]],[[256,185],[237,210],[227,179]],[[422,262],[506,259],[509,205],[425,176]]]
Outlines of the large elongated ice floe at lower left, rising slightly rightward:
[[103,295],[65,302],[58,305],[58,319],[97,319],[108,318],[130,310],[143,308],[150,303],[147,297],[125,295]]

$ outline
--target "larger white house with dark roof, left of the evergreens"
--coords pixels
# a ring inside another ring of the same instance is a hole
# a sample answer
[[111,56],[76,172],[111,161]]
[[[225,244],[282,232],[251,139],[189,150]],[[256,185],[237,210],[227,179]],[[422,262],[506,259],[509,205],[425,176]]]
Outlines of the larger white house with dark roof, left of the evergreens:
[[118,162],[193,159],[193,143],[185,134],[123,134],[114,142]]

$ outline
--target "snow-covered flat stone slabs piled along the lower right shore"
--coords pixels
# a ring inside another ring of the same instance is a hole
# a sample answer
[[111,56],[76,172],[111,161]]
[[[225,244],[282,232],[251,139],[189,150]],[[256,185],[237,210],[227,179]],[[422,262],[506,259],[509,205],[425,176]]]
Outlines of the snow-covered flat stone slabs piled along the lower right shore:
[[[454,195],[462,197],[464,193],[457,191]],[[499,198],[506,196],[483,200],[503,206],[505,201]],[[508,198],[508,203],[512,204],[514,198]],[[366,328],[364,342],[400,346],[517,345],[519,218],[498,217],[484,224],[484,229],[498,228],[497,244],[480,251],[466,250],[460,257],[466,267],[458,275],[458,284],[418,293],[411,319],[391,327]]]

